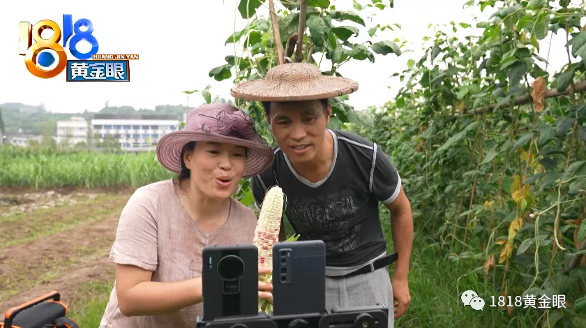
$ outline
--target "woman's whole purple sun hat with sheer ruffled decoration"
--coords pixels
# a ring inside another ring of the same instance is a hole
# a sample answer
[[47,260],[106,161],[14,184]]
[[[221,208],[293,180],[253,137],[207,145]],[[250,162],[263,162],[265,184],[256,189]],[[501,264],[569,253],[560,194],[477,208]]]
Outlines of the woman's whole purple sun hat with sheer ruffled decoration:
[[192,141],[225,142],[246,147],[248,158],[243,177],[260,174],[273,161],[273,151],[256,132],[253,118],[232,105],[213,103],[191,110],[183,130],[167,133],[157,143],[160,165],[179,173],[181,150]]

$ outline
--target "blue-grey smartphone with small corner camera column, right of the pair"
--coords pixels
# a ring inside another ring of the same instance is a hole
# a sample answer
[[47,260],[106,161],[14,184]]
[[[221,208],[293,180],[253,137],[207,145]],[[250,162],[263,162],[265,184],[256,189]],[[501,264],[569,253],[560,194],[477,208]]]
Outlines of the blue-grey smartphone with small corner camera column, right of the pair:
[[273,245],[273,313],[326,312],[326,245],[321,240]]

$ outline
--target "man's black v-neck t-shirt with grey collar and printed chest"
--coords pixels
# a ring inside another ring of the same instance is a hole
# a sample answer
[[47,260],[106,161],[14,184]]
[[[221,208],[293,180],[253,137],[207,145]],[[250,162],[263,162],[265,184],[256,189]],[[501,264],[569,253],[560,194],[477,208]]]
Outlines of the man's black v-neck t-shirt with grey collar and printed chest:
[[275,147],[272,165],[250,183],[258,208],[267,188],[283,188],[285,214],[299,240],[324,241],[327,266],[354,267],[386,251],[378,202],[393,202],[401,179],[377,144],[346,131],[328,131],[334,156],[322,181],[300,177]]

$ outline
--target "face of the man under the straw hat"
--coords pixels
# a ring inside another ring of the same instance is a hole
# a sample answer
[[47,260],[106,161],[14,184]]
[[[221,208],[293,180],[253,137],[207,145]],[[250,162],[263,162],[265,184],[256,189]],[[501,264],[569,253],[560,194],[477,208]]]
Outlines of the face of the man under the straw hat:
[[322,148],[331,108],[320,100],[271,103],[271,130],[280,149],[294,163],[312,161]]

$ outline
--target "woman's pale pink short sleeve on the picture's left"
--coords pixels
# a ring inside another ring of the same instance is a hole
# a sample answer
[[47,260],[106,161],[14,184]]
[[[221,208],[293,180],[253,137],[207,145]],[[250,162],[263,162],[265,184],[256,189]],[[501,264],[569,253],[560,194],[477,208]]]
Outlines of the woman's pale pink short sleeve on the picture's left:
[[158,258],[156,193],[138,188],[122,210],[110,259],[155,271]]

